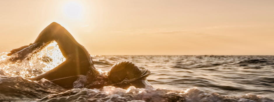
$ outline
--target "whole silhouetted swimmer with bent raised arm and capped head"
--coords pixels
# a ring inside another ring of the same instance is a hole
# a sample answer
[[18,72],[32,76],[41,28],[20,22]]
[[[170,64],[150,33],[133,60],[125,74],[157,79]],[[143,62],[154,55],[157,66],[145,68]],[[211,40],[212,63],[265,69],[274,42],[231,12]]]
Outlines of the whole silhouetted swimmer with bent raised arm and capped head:
[[[10,59],[12,61],[23,60],[29,53],[36,53],[42,50],[52,41],[57,42],[66,60],[46,73],[34,78],[28,78],[29,80],[35,81],[45,78],[59,86],[71,89],[73,82],[75,82],[80,75],[89,74],[89,76],[96,77],[98,73],[96,72],[94,61],[92,61],[88,51],[79,44],[64,27],[56,22],[52,22],[43,29],[34,43],[10,50],[10,53],[7,55],[16,55]],[[109,82],[99,86],[99,88],[105,85],[124,89],[127,89],[129,86],[135,86],[136,88],[152,87],[146,80],[146,77],[149,75],[150,71],[145,68],[138,68],[131,62],[120,62],[110,69],[108,73]]]

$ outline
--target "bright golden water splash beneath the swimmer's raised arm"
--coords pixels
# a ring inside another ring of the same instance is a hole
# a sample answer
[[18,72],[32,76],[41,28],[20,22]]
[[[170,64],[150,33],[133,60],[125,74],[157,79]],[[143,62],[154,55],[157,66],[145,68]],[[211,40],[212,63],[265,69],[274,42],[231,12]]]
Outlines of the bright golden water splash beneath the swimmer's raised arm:
[[53,41],[37,53],[30,53],[22,61],[12,62],[8,52],[0,54],[0,69],[9,76],[35,77],[45,73],[66,60],[57,42]]

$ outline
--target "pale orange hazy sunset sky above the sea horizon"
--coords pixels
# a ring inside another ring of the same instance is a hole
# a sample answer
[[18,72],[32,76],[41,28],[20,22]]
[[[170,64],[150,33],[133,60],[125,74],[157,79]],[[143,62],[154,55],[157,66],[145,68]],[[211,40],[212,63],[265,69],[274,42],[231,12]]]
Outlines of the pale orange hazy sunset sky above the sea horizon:
[[2,0],[0,52],[51,22],[91,55],[274,55],[273,0]]

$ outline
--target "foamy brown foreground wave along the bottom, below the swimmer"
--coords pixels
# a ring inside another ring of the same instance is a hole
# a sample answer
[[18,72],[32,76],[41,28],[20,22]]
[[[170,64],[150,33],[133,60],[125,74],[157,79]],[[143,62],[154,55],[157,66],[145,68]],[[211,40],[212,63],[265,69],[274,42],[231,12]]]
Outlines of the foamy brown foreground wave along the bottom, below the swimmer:
[[[231,87],[226,87],[226,89],[227,88],[231,89]],[[186,90],[173,90],[159,88],[143,89],[135,88],[133,86],[128,89],[121,89],[109,86],[103,87],[102,89],[76,88],[66,90],[48,80],[30,81],[22,77],[1,77],[0,101],[272,102],[274,100],[254,94],[245,94],[240,96],[220,95],[218,93],[203,91],[197,87]]]

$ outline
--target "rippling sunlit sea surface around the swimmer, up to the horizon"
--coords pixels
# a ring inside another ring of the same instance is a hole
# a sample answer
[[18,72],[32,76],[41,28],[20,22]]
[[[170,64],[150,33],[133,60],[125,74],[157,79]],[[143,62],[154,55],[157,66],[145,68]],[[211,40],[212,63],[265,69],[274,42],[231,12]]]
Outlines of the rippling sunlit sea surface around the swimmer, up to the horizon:
[[99,71],[121,61],[147,68],[154,88],[68,90],[26,79],[65,61],[56,43],[23,61],[7,53],[0,54],[0,102],[274,102],[274,56],[91,55]]

